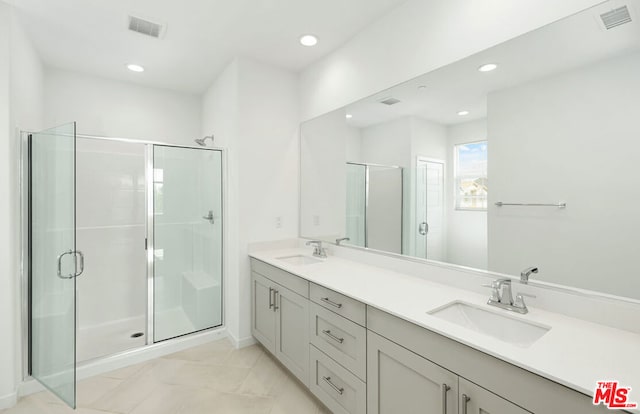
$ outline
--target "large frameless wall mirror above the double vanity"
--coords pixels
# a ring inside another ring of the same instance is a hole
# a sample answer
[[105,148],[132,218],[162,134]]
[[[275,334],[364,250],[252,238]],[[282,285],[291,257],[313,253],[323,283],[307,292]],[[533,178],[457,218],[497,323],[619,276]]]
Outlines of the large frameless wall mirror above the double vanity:
[[307,121],[301,164],[302,237],[640,299],[640,0]]

